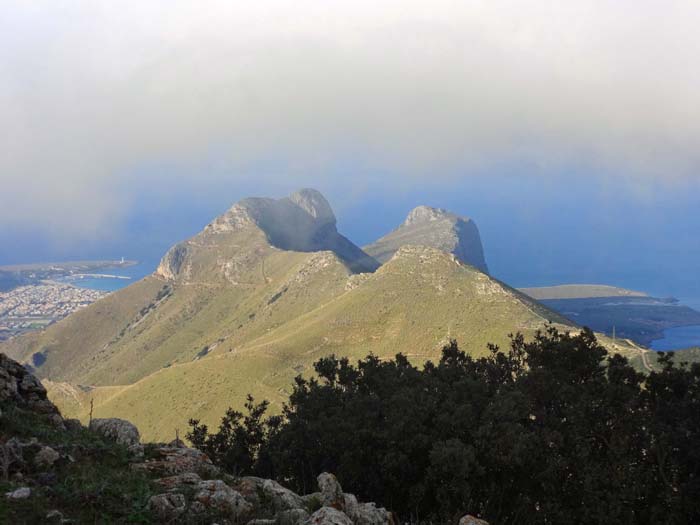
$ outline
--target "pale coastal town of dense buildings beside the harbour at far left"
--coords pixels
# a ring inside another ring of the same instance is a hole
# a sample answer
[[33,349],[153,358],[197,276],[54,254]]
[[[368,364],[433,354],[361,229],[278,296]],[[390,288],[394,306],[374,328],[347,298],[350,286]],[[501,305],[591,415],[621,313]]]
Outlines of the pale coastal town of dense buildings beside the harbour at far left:
[[0,341],[60,321],[105,295],[52,281],[0,292]]

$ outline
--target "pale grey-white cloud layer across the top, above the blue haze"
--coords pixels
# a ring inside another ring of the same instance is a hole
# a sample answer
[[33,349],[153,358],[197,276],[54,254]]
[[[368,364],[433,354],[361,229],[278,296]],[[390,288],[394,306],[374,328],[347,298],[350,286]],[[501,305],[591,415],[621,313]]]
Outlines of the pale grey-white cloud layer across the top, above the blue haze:
[[2,11],[0,228],[94,237],[143,188],[252,177],[428,184],[515,163],[642,193],[698,178],[693,0]]

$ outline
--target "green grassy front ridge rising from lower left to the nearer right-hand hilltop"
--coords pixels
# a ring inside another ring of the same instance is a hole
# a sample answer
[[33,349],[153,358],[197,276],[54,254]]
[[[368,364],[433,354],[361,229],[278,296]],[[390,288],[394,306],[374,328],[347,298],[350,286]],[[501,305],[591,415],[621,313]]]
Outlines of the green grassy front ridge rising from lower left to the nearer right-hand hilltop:
[[167,439],[191,417],[216,423],[248,393],[269,399],[278,410],[294,376],[312,374],[313,362],[331,353],[356,359],[403,352],[421,364],[438,359],[450,338],[483,355],[488,342],[506,344],[510,332],[532,334],[548,321],[565,323],[429,248],[403,248],[376,273],[345,281],[347,290],[334,299],[244,343],[222,343],[201,359],[173,364],[121,389],[81,391],[79,402],[50,388],[53,398],[70,415],[84,417],[92,396],[96,415],[133,420],[147,439]]

